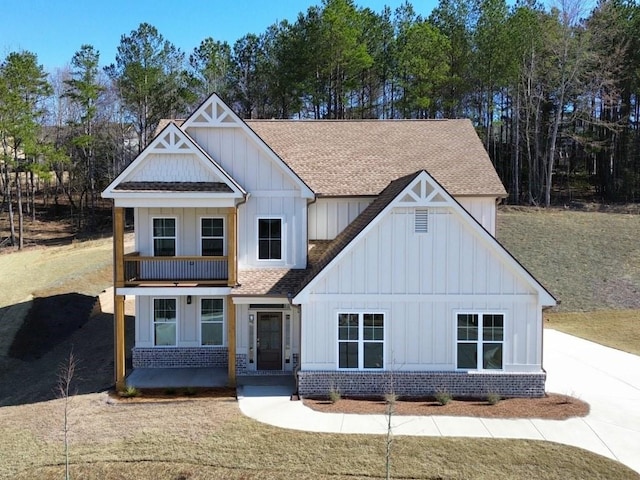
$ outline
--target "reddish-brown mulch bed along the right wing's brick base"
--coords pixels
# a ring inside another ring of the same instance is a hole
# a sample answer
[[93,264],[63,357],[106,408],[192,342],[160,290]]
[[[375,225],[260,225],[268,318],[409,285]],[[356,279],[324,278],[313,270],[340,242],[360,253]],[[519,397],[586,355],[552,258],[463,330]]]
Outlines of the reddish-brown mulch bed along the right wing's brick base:
[[[308,399],[304,404],[319,412],[385,414],[387,403],[383,399],[342,398],[335,403],[328,399]],[[449,415],[483,418],[543,418],[565,420],[584,417],[589,413],[589,404],[567,395],[549,394],[543,398],[508,398],[490,405],[484,399],[451,400],[440,405],[435,399],[399,399],[393,409],[394,415]]]

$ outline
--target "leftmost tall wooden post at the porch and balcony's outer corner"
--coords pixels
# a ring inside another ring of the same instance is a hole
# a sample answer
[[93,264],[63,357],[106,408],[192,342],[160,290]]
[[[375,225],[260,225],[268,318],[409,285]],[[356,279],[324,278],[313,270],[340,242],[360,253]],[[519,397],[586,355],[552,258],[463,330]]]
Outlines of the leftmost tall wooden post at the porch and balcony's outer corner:
[[113,342],[116,389],[124,387],[124,295],[118,288],[124,287],[124,208],[113,208]]

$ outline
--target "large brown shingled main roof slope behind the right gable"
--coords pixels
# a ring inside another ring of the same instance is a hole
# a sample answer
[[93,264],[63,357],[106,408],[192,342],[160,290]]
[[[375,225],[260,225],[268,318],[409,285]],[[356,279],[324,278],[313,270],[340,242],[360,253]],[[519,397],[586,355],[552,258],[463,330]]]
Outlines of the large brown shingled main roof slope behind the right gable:
[[426,170],[454,196],[506,196],[469,120],[246,120],[319,196],[377,195]]

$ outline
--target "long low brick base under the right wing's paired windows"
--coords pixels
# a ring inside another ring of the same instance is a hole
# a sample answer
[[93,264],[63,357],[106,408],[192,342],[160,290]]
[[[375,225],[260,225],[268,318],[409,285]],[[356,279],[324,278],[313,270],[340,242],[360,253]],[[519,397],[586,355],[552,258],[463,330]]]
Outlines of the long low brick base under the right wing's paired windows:
[[447,391],[453,397],[542,397],[546,373],[518,372],[298,372],[298,393],[326,396],[331,389],[342,395],[429,396]]

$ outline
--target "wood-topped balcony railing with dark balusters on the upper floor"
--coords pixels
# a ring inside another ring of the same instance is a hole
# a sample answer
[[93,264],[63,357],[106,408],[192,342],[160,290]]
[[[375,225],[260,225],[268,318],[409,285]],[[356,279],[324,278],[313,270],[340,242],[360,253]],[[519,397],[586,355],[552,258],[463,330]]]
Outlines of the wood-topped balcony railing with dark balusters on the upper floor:
[[125,285],[144,283],[194,282],[226,284],[227,257],[141,257],[138,252],[124,256]]

